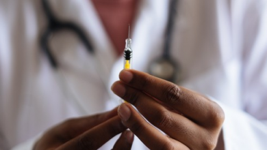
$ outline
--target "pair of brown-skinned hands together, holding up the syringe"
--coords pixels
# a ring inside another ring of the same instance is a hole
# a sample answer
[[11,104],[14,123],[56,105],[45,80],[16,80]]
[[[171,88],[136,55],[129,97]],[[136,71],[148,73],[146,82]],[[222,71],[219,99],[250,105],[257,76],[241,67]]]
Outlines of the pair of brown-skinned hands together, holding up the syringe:
[[[113,149],[131,149],[133,134],[149,149],[223,147],[218,137],[224,112],[207,97],[136,70],[120,72],[112,90],[129,103],[103,114],[64,121],[45,132],[35,149],[98,149],[120,132]],[[125,132],[127,127],[133,134]]]

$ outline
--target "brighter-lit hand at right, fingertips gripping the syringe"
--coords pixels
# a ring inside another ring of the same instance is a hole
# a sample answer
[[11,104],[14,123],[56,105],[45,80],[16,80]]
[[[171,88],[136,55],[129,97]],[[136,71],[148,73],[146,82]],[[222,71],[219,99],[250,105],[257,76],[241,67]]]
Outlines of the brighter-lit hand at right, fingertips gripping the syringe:
[[121,104],[118,115],[149,149],[216,147],[224,121],[224,112],[218,104],[199,93],[136,70],[123,70],[119,77],[112,91],[130,104]]

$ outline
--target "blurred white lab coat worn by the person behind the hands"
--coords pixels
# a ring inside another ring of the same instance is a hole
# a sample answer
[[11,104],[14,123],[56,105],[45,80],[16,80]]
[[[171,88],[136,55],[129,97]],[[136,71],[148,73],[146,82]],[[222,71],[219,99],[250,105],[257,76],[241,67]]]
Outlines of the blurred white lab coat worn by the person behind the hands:
[[[0,149],[31,149],[52,125],[118,104],[110,86],[118,80],[123,57],[116,57],[92,3],[50,3],[58,18],[84,29],[96,54],[88,55],[74,33],[55,34],[50,45],[66,78],[60,86],[59,71],[51,68],[39,46],[47,26],[40,1],[1,0]],[[171,44],[182,70],[177,84],[209,95],[223,107],[227,150],[267,149],[266,4],[181,0],[177,5]],[[149,62],[162,53],[168,1],[143,0],[138,9],[131,25],[133,68],[147,72]],[[112,146],[109,142],[102,149]],[[133,149],[146,148],[136,138]]]

